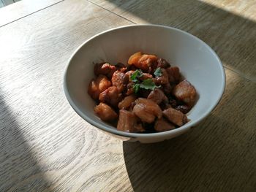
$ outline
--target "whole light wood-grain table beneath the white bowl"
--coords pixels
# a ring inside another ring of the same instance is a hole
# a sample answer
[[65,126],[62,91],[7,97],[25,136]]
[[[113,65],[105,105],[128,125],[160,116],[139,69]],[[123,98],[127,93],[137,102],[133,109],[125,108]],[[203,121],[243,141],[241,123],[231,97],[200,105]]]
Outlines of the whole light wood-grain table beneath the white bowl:
[[[132,23],[188,31],[225,65],[222,101],[181,137],[121,142],[64,96],[73,51]],[[23,0],[0,26],[0,191],[256,191],[255,0]]]

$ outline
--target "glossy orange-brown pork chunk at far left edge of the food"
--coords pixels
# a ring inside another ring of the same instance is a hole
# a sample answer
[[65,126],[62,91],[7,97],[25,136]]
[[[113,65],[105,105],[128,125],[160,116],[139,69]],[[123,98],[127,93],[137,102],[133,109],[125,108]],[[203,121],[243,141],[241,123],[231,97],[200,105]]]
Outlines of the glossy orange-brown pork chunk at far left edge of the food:
[[88,93],[92,99],[99,99],[99,94],[111,86],[110,80],[105,75],[99,74],[97,79],[91,80]]

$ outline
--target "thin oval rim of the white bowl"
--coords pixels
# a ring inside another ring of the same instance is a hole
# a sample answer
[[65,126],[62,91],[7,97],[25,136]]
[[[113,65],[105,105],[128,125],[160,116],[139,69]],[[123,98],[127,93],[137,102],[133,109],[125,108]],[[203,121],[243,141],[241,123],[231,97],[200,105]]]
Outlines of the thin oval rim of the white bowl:
[[[194,120],[191,123],[186,123],[184,126],[181,126],[179,128],[175,128],[173,130],[170,131],[163,131],[163,132],[157,132],[157,133],[130,133],[130,132],[125,132],[125,131],[118,131],[117,129],[113,129],[113,128],[108,128],[108,126],[104,126],[100,123],[97,123],[94,120],[91,120],[91,118],[89,118],[87,115],[85,115],[80,109],[79,107],[75,104],[75,102],[72,100],[72,97],[69,94],[69,91],[67,89],[67,72],[69,69],[69,64],[71,63],[72,59],[74,58],[74,56],[76,55],[76,53],[78,53],[78,51],[80,50],[81,47],[83,47],[84,45],[86,45],[86,43],[90,42],[92,39],[101,36],[102,34],[106,34],[110,31],[116,31],[118,29],[122,29],[122,28],[140,28],[140,27],[155,27],[155,28],[165,28],[167,30],[173,30],[173,31],[178,31],[181,34],[185,34],[188,35],[189,37],[192,37],[192,39],[195,39],[201,43],[203,43],[203,45],[206,45],[206,47],[208,48],[208,50],[210,50],[210,52],[214,55],[214,57],[217,59],[218,64],[219,64],[219,69],[220,72],[222,73],[222,85],[221,85],[221,91],[219,92],[219,95],[217,96],[217,101],[215,101],[215,104],[212,107],[209,107],[205,112],[203,112],[203,115],[200,116],[200,118],[197,118],[197,120]],[[217,104],[219,104],[219,101],[222,99],[222,95],[225,91],[225,86],[226,86],[226,76],[225,76],[225,69],[224,66],[222,65],[222,61],[219,59],[219,56],[217,55],[217,53],[215,53],[215,51],[206,44],[206,42],[203,42],[203,40],[199,39],[198,37],[195,37],[192,34],[189,34],[186,31],[183,31],[181,29],[178,28],[174,28],[174,27],[170,27],[170,26],[162,26],[162,25],[155,25],[155,24],[132,24],[132,25],[127,25],[127,26],[118,26],[116,28],[110,28],[108,30],[102,31],[99,34],[95,34],[93,37],[87,39],[85,42],[83,42],[70,56],[68,62],[67,62],[67,66],[64,72],[64,82],[63,82],[63,86],[64,86],[64,93],[65,96],[67,97],[67,100],[69,101],[69,104],[71,105],[71,107],[73,108],[73,110],[75,110],[75,112],[78,113],[78,115],[80,115],[81,118],[83,118],[84,120],[86,120],[88,123],[90,123],[92,126],[95,126],[97,128],[102,129],[102,131],[107,131],[110,132],[111,134],[116,134],[118,136],[121,137],[131,137],[131,138],[149,138],[149,137],[162,137],[162,136],[167,136],[167,135],[173,135],[173,134],[178,134],[179,132],[183,132],[186,129],[192,128],[192,126],[195,126],[197,123],[200,123],[201,120],[203,120],[204,118],[206,118],[212,110],[214,110],[215,107],[217,107]]]

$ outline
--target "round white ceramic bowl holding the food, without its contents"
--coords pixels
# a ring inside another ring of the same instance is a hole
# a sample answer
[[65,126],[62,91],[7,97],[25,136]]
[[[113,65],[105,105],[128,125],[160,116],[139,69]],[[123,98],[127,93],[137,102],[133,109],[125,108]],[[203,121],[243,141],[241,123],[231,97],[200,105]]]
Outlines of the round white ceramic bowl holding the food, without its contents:
[[[87,93],[94,77],[93,62],[127,64],[129,55],[138,51],[165,58],[172,66],[178,66],[181,74],[195,86],[199,99],[188,114],[189,123],[171,131],[135,134],[118,131],[94,114],[96,102]],[[192,34],[157,25],[113,28],[91,37],[72,55],[64,75],[67,100],[80,117],[113,136],[140,142],[160,142],[184,134],[214,110],[224,89],[225,70],[211,47]]]

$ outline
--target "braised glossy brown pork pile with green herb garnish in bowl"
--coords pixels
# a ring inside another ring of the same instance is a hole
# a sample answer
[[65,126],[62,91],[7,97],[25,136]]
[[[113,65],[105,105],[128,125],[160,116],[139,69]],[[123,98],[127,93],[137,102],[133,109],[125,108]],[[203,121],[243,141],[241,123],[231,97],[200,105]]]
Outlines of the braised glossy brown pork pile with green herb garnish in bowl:
[[94,112],[119,131],[168,131],[189,121],[197,92],[164,58],[138,52],[126,65],[95,64],[94,74],[88,88],[98,103]]

